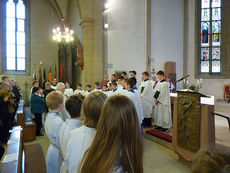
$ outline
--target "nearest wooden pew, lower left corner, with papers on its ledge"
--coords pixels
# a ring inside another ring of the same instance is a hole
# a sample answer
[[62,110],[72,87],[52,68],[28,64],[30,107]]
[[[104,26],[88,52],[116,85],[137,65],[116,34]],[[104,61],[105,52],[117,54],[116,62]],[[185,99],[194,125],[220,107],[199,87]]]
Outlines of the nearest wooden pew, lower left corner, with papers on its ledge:
[[[17,154],[17,160],[0,163],[1,173],[46,173],[46,162],[43,149],[39,143],[24,145],[21,126],[13,128],[5,154]],[[4,161],[5,158],[3,158]]]

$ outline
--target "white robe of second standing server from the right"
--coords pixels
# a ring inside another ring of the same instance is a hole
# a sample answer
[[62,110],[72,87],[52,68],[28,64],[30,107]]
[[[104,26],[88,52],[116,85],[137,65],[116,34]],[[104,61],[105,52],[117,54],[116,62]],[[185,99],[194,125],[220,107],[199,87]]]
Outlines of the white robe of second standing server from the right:
[[138,88],[138,92],[141,95],[144,118],[151,118],[153,101],[154,101],[152,82],[150,80],[142,81],[141,85]]

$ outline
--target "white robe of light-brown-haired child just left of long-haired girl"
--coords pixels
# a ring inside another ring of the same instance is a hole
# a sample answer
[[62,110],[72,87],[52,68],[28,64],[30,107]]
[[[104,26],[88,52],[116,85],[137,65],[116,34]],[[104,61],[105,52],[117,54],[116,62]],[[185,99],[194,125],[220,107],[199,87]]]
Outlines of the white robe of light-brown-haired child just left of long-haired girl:
[[71,131],[65,155],[65,171],[67,173],[77,172],[85,151],[90,147],[95,134],[94,128],[84,125]]

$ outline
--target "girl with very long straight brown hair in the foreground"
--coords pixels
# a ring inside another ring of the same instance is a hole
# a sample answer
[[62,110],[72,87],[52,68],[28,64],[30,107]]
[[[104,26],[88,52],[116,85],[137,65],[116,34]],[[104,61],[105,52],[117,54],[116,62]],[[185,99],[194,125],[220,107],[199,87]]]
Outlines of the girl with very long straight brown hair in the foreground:
[[106,100],[95,138],[78,172],[143,173],[143,143],[136,109],[129,98],[118,95]]

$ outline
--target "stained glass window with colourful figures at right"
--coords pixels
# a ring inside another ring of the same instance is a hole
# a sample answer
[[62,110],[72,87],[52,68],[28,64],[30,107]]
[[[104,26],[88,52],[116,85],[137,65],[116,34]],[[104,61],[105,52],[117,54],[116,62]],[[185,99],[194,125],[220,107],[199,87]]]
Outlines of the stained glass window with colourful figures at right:
[[221,72],[221,0],[201,0],[201,73]]

